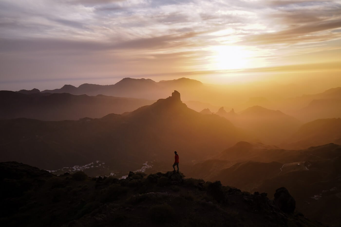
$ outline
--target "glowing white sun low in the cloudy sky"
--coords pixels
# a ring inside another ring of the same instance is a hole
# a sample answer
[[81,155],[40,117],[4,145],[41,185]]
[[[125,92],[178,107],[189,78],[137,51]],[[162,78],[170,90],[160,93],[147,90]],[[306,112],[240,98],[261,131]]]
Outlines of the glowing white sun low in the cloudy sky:
[[215,70],[245,69],[250,66],[252,51],[240,46],[215,46],[211,48],[211,66]]

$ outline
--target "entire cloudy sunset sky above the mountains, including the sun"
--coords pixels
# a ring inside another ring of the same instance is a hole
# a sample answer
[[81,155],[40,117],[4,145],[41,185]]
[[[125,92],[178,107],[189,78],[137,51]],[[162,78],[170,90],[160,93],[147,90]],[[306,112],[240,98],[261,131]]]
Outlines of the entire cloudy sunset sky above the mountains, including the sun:
[[124,77],[341,86],[341,0],[0,0],[0,67],[0,90]]

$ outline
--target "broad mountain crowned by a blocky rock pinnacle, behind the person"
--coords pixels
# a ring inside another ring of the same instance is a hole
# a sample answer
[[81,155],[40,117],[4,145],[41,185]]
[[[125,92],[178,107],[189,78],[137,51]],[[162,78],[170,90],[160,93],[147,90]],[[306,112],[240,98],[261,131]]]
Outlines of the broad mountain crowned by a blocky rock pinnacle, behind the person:
[[57,122],[21,118],[2,120],[0,125],[1,161],[19,161],[44,169],[95,160],[107,160],[109,166],[122,169],[128,163],[169,162],[174,150],[182,152],[183,160],[192,162],[244,138],[227,119],[189,109],[177,91],[123,115]]

